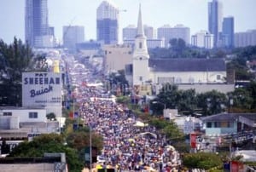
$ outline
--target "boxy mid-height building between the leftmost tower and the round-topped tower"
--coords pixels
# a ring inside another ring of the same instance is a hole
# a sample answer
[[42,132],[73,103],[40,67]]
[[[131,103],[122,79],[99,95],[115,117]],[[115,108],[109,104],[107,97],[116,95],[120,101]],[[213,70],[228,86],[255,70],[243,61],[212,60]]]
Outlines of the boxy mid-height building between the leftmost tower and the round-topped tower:
[[63,26],[63,47],[76,49],[76,43],[84,42],[84,26]]

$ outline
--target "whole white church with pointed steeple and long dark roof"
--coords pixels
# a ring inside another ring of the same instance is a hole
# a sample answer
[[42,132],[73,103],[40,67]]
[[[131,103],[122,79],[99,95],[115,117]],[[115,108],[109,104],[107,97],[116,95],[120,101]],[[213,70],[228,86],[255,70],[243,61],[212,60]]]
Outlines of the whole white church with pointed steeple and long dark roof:
[[[193,89],[193,85],[196,84],[224,85],[226,83],[226,73],[224,59],[150,58],[147,37],[143,32],[140,7],[132,64],[125,66],[125,77],[130,85],[136,88],[137,95],[151,95],[153,86],[160,86],[163,83],[190,85],[190,89]],[[227,84],[225,85],[227,86]],[[216,88],[216,86],[213,86],[213,88]],[[234,84],[229,85],[224,92],[232,91],[231,89],[234,89]]]

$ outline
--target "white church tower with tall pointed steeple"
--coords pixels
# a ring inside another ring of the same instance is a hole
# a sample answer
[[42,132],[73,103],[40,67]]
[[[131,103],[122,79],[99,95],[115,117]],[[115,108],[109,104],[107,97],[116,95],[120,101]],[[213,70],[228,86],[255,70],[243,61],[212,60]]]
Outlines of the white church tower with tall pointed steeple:
[[141,5],[137,20],[137,36],[132,57],[133,85],[143,85],[149,79],[147,37],[144,35]]

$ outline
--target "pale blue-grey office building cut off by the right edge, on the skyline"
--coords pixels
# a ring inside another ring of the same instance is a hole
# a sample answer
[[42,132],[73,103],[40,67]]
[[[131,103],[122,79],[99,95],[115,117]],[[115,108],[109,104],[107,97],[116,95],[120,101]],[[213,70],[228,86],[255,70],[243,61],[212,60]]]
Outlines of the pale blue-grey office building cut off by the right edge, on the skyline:
[[235,47],[256,45],[256,30],[235,33]]

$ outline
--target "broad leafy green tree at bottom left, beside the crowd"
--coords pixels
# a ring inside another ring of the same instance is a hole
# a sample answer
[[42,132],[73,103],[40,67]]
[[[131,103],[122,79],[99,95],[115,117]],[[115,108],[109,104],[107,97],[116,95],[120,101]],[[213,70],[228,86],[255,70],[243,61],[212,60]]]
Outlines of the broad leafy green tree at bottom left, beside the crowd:
[[80,172],[83,169],[77,151],[65,146],[63,137],[57,134],[39,135],[32,141],[21,142],[8,157],[43,157],[44,152],[65,152],[69,171]]

